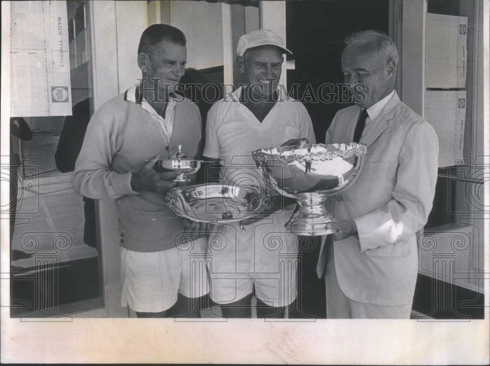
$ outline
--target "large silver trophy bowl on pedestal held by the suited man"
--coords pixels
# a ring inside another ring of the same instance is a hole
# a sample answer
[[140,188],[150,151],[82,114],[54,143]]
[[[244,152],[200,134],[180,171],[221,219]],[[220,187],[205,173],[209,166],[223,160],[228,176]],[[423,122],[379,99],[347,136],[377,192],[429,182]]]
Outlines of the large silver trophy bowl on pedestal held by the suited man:
[[268,185],[281,195],[296,198],[299,209],[285,227],[298,235],[331,234],[333,215],[325,208],[329,195],[345,189],[356,178],[366,145],[304,144],[252,152]]

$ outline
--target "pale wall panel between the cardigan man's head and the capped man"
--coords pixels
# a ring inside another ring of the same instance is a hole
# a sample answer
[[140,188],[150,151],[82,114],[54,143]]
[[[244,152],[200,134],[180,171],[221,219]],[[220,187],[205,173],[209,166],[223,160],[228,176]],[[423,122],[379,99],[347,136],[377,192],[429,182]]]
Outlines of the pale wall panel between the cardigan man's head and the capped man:
[[187,67],[205,69],[223,65],[220,3],[170,1],[170,24],[182,30],[187,38]]

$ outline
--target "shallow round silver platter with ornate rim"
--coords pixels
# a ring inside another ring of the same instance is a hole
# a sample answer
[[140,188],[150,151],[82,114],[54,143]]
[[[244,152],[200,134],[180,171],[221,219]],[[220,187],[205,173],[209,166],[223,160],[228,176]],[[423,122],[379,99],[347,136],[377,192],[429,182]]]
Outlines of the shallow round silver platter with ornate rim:
[[178,187],[165,201],[178,215],[197,222],[233,222],[264,210],[267,194],[260,187],[200,184]]

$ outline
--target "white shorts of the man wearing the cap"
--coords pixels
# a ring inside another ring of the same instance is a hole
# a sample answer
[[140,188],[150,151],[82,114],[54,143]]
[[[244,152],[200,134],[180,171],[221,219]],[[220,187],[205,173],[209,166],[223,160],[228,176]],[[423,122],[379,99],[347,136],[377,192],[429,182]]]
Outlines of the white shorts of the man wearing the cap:
[[284,228],[290,216],[291,212],[271,215],[245,226],[245,232],[236,223],[216,225],[207,254],[213,301],[235,302],[252,293],[253,286],[257,297],[270,306],[294,301],[297,236]]

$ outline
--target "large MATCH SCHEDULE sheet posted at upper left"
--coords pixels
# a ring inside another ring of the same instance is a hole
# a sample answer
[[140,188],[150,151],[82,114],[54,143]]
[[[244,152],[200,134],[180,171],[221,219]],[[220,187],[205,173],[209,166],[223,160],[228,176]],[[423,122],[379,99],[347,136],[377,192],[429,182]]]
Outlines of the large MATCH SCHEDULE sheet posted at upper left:
[[65,1],[10,3],[10,115],[71,116]]

